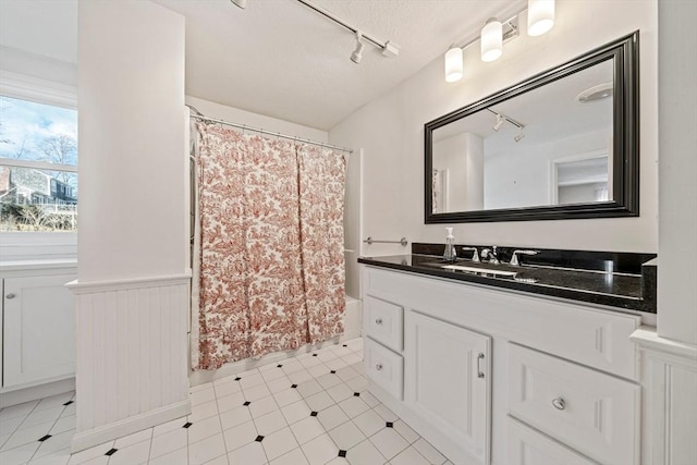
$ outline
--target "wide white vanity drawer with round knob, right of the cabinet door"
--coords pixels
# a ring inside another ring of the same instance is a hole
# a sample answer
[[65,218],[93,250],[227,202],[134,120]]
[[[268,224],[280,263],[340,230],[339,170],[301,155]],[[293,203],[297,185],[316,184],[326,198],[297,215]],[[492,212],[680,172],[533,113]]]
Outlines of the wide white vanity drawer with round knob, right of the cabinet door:
[[601,463],[637,464],[637,384],[509,343],[509,413]]

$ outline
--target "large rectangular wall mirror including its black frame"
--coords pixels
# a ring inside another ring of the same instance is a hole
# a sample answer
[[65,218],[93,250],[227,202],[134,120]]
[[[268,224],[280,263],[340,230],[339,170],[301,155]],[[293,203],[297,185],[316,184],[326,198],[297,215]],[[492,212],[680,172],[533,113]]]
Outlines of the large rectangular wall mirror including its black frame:
[[425,125],[426,223],[638,216],[638,32]]

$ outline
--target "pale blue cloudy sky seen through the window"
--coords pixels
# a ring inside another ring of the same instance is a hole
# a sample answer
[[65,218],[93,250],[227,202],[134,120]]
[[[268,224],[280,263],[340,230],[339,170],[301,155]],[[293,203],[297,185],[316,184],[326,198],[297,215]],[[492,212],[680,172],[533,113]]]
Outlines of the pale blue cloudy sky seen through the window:
[[[77,111],[0,97],[0,157],[40,160],[50,137],[68,135],[77,140]],[[9,142],[5,142],[9,140]],[[22,150],[24,149],[24,150]]]

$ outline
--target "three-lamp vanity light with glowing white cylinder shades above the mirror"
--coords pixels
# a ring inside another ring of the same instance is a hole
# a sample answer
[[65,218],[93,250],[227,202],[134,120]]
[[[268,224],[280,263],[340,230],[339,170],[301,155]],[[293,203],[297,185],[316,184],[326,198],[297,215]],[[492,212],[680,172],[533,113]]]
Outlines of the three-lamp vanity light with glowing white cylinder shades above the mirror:
[[[298,0],[305,1],[305,0]],[[490,17],[478,37],[469,40],[464,46],[451,46],[445,52],[445,82],[454,83],[462,78],[462,51],[479,41],[481,61],[491,62],[503,54],[503,44],[517,37],[518,17],[525,9],[515,13],[510,20],[500,22]],[[529,36],[539,36],[547,33],[554,25],[554,0],[528,0],[527,3],[527,33]],[[460,49],[460,54],[456,53]]]

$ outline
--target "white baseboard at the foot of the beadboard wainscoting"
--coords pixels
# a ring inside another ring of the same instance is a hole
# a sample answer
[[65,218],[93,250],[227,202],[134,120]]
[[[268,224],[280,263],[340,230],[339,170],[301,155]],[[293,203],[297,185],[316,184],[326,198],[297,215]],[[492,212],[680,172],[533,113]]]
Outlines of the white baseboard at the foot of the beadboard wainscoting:
[[186,400],[87,431],[80,431],[73,437],[71,453],[74,454],[75,452],[94,448],[107,441],[123,438],[124,436],[184,417],[191,414],[191,401]]

